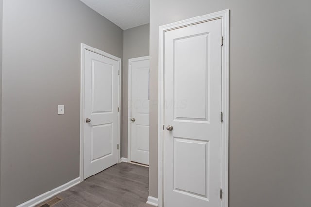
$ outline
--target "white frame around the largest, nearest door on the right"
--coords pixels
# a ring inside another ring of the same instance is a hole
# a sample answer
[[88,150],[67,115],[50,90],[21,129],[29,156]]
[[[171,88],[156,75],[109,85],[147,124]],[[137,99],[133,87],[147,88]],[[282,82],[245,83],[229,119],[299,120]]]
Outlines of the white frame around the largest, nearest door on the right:
[[[164,202],[164,33],[169,30],[186,27],[192,24],[198,24],[215,19],[222,20],[222,111],[223,123],[221,128],[221,188],[223,190],[222,207],[228,207],[228,168],[229,168],[229,9],[198,16],[183,21],[163,25],[159,27],[159,109],[158,109],[158,206],[163,207]],[[220,37],[221,38],[221,37]]]

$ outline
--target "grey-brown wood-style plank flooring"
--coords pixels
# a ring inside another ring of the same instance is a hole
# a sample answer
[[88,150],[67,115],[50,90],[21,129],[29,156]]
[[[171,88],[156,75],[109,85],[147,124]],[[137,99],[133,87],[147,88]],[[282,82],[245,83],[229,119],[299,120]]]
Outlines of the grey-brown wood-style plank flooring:
[[153,207],[146,204],[148,171],[121,162],[60,193],[63,200],[53,207]]

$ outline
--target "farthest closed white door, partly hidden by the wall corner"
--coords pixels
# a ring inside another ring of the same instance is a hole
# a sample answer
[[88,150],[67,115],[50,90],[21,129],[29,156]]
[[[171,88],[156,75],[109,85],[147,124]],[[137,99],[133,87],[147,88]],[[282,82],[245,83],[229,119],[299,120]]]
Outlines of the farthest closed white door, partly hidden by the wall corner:
[[130,161],[149,165],[149,58],[129,63]]

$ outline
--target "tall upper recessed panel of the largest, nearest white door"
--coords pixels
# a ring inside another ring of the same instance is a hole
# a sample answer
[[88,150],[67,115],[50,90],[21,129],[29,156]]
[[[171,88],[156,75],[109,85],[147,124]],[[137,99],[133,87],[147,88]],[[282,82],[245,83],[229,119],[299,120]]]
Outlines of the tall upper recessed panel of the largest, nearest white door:
[[174,40],[174,118],[208,121],[208,33]]

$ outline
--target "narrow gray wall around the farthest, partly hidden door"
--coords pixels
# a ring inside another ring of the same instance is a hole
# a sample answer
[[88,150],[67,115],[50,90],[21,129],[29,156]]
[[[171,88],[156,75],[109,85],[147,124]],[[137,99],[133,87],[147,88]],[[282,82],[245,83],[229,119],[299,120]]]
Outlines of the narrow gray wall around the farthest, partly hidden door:
[[127,158],[127,121],[128,116],[128,59],[149,55],[149,24],[124,30],[123,52],[123,121],[121,157]]

